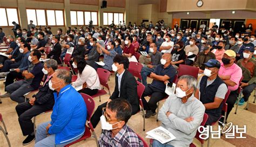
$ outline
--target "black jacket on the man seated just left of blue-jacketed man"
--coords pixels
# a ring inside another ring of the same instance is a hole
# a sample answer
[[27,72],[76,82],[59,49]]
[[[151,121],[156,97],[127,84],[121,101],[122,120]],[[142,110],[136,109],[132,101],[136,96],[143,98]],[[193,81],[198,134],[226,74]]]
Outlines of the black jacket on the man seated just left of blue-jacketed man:
[[[47,76],[45,75],[44,81],[46,81]],[[50,81],[50,80],[49,80]],[[35,105],[44,105],[44,107],[52,108],[55,100],[53,96],[53,91],[49,88],[48,82],[42,88],[39,88],[39,92],[33,97],[36,98]]]

